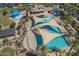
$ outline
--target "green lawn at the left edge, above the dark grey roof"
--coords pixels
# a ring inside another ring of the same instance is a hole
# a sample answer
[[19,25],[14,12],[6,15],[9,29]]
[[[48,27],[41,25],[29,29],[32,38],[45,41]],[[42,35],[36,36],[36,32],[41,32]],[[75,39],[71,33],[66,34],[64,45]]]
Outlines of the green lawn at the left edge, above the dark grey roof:
[[7,15],[5,15],[5,16],[0,15],[0,25],[2,25],[2,27],[8,27],[12,23],[13,23],[13,21],[10,20]]

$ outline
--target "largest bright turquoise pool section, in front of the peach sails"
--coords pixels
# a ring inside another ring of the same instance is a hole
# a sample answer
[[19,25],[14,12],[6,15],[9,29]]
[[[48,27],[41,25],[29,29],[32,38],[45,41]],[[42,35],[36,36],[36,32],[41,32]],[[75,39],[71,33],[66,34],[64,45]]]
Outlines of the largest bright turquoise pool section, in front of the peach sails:
[[47,43],[46,47],[48,49],[61,49],[68,47],[68,41],[65,36],[59,36],[52,39],[50,42]]

